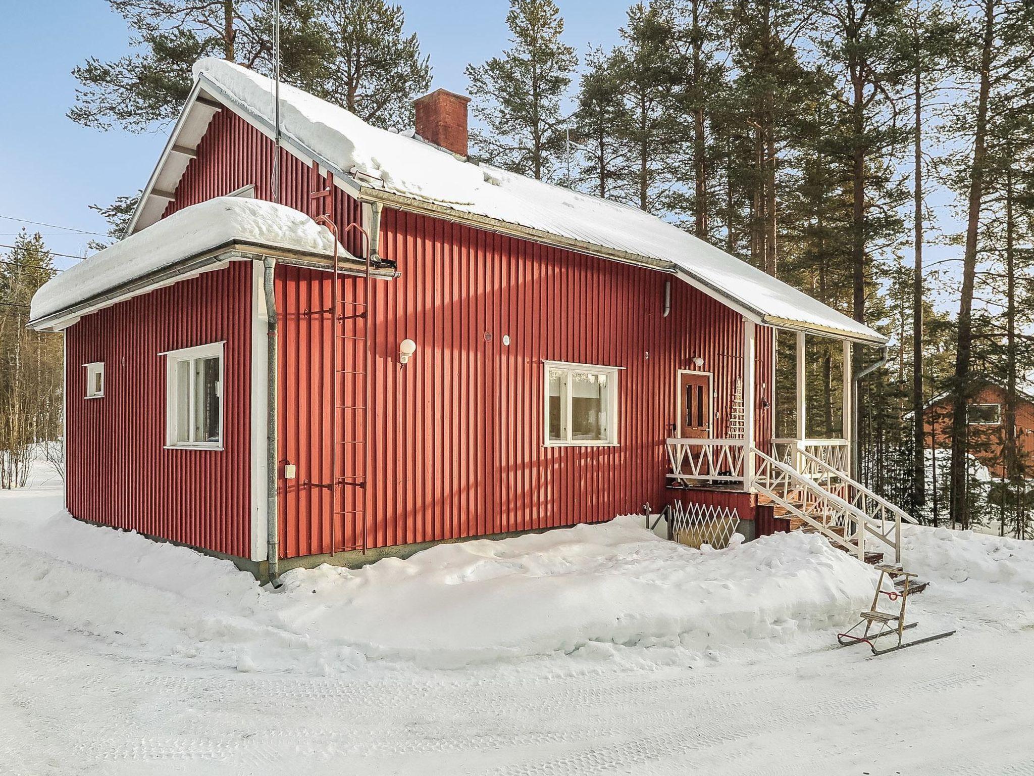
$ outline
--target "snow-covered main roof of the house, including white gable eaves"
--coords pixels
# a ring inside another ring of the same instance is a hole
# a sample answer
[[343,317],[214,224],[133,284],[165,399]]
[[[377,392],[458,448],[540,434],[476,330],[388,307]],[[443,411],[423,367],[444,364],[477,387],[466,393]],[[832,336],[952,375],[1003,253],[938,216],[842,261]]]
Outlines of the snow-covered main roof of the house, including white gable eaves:
[[[186,157],[175,152],[188,153],[183,144],[200,140],[213,106],[274,133],[270,79],[221,59],[199,61],[194,77],[128,234],[160,217],[185,169]],[[286,84],[280,85],[280,121],[288,150],[333,172],[335,182],[360,199],[671,272],[759,324],[886,342],[874,329],[638,208],[470,161],[412,132],[371,126]]]

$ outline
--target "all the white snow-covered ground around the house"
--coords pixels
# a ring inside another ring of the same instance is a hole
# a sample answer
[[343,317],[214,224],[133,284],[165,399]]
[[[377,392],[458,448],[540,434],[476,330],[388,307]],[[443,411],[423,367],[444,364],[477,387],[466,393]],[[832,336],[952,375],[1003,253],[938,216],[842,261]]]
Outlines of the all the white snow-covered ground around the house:
[[[0,494],[0,774],[1034,773],[1034,543],[909,527],[916,636],[834,635],[873,571],[814,536],[632,518],[277,593]],[[913,605],[913,604],[910,604]]]

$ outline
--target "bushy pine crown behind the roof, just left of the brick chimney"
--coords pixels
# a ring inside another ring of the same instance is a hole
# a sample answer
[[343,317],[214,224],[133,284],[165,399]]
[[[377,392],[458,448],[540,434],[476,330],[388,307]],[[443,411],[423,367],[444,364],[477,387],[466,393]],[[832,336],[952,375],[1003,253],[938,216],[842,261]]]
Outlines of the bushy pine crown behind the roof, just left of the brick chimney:
[[402,7],[386,0],[321,4],[324,55],[303,69],[300,86],[376,126],[412,126],[413,100],[430,88],[431,67],[404,24]]

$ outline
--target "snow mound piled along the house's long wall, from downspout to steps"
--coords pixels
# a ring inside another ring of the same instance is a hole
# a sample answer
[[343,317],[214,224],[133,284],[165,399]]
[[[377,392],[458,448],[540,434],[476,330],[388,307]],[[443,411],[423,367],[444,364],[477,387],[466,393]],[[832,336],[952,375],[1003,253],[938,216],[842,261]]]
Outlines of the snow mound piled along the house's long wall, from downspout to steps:
[[873,576],[817,536],[700,551],[618,517],[284,583],[293,603],[279,616],[295,632],[460,665],[591,644],[705,651],[825,628],[872,595]]

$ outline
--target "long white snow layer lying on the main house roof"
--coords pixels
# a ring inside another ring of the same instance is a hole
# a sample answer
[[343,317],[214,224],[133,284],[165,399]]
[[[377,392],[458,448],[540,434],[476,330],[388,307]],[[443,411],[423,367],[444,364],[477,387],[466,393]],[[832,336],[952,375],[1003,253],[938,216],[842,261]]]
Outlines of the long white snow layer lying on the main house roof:
[[[269,79],[222,59],[202,59],[204,77],[245,112],[273,122]],[[790,321],[863,339],[874,330],[759,269],[638,208],[590,197],[488,165],[463,161],[419,139],[370,126],[342,108],[281,85],[284,135],[339,171],[365,173],[385,189],[464,213],[519,225],[602,248],[664,262],[772,322]]]

